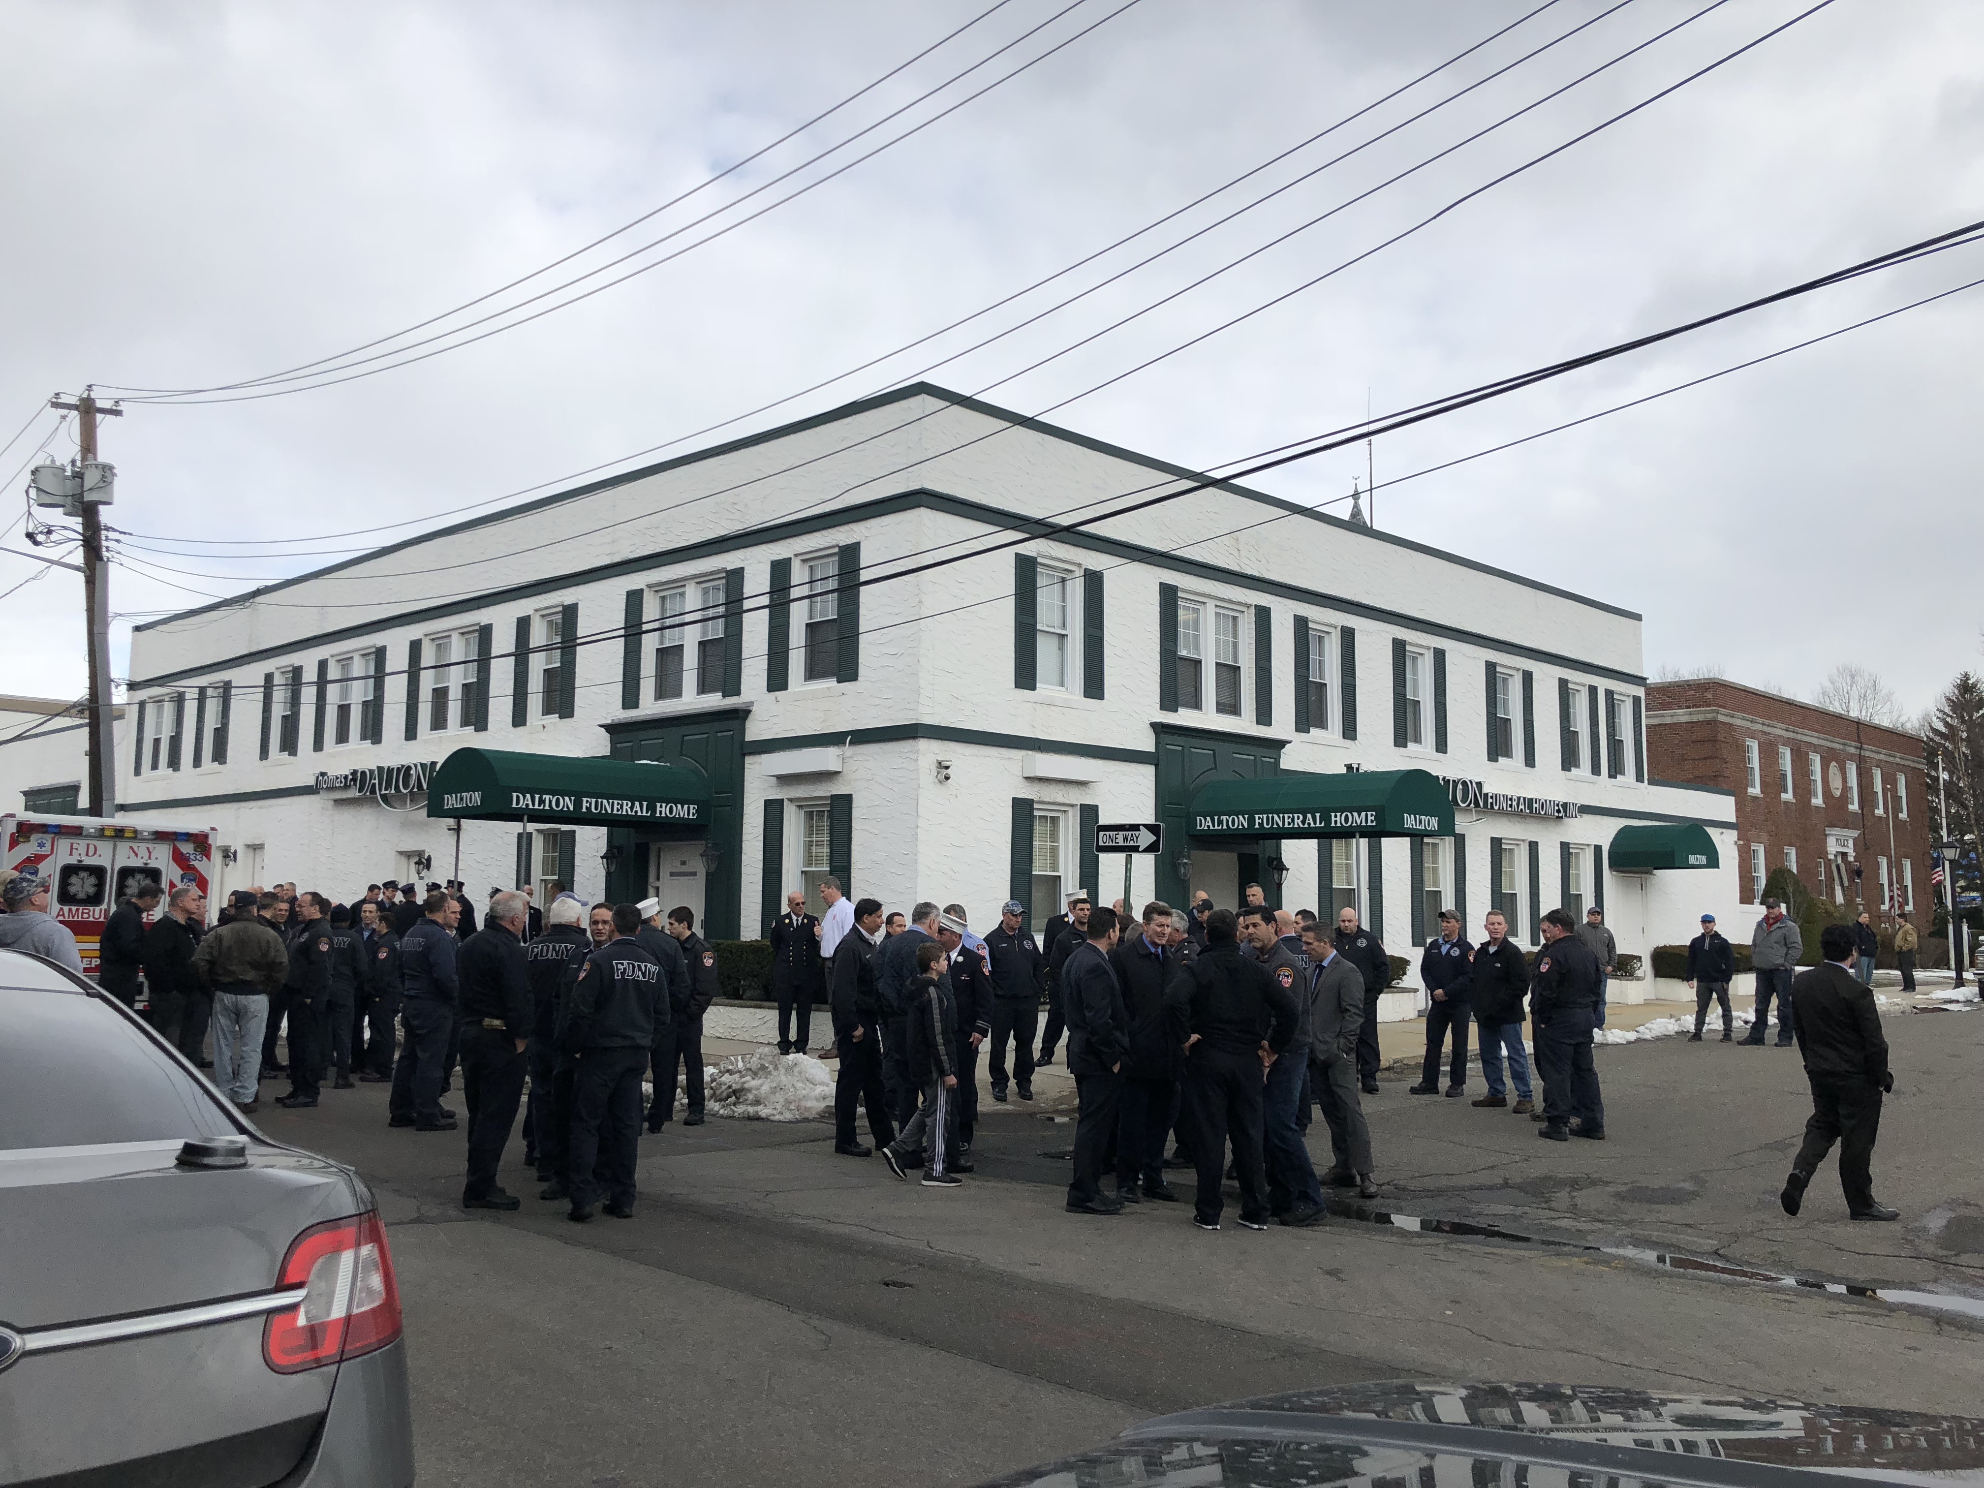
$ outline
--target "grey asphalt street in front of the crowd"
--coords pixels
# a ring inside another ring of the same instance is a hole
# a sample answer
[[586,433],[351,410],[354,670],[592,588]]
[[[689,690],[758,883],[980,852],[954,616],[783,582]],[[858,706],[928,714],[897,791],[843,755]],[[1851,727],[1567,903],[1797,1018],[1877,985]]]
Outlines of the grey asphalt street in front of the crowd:
[[[1984,1018],[1895,1016],[1889,1038],[1875,1171],[1903,1224],[1849,1224],[1823,1177],[1788,1222],[1798,1055],[1680,1040],[1599,1052],[1603,1145],[1387,1079],[1379,1208],[1958,1286],[1984,1262],[1964,1248],[1984,1246]],[[524,1208],[464,1214],[460,1133],[387,1129],[377,1085],[262,1123],[379,1192],[425,1484],[972,1482],[1163,1411],[1409,1375],[1984,1399],[1984,1327],[1956,1315],[1347,1218],[1071,1216],[1071,1129],[1032,1107],[986,1103],[978,1173],[948,1192],[835,1157],[821,1123],[671,1127],[641,1139],[637,1216],[585,1226],[534,1198],[516,1143]]]

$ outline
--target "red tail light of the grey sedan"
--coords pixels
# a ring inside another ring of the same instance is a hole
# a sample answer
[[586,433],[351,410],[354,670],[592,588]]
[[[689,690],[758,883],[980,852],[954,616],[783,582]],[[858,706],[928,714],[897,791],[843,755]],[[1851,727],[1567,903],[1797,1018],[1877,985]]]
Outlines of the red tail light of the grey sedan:
[[304,1288],[304,1300],[270,1313],[262,1331],[262,1359],[278,1375],[357,1359],[401,1333],[399,1280],[377,1214],[304,1230],[282,1260],[278,1286]]

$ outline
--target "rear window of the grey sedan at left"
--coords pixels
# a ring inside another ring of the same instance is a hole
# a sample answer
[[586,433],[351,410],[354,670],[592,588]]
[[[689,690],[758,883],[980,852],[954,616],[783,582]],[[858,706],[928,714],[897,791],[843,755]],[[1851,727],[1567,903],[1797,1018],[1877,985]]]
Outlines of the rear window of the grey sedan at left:
[[56,990],[46,968],[10,960],[0,958],[0,1151],[238,1131],[218,1101],[115,1008],[67,982]]

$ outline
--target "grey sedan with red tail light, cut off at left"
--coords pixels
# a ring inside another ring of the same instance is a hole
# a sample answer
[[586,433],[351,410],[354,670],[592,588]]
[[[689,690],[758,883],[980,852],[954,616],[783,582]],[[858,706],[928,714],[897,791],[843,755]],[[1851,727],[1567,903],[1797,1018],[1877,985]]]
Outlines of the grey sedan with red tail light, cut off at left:
[[0,1484],[411,1484],[371,1190],[0,950]]

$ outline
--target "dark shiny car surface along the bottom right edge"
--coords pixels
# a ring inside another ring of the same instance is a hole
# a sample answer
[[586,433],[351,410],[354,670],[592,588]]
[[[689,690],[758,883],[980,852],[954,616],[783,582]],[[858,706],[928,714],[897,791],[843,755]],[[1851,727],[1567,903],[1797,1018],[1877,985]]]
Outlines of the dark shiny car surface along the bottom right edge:
[[[1270,1395],[1131,1426],[986,1488],[1321,1484],[1984,1482],[1984,1421],[1571,1385],[1377,1383]],[[1528,1476],[1538,1482],[1536,1476]]]

